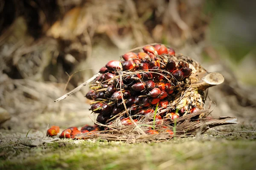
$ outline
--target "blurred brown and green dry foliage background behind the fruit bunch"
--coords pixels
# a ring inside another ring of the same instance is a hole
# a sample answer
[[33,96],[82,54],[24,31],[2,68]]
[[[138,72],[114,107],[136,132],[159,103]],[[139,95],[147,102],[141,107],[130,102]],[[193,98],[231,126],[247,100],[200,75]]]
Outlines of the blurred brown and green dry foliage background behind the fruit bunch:
[[[217,104],[213,114],[253,117],[255,5],[254,0],[0,0],[0,107],[12,115],[11,123],[21,119],[31,128],[49,121],[84,124],[90,121],[86,87],[53,101],[107,61],[137,46],[164,43],[224,75],[225,83],[209,90]],[[47,117],[48,112],[62,116]],[[67,112],[75,114],[64,117]]]

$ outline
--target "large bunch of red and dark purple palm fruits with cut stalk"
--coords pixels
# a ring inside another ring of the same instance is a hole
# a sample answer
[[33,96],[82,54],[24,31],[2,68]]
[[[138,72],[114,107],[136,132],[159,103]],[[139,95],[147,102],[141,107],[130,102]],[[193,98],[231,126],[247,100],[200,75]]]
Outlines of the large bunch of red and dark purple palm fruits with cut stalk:
[[204,109],[204,90],[218,84],[216,75],[163,44],[140,50],[122,55],[123,61],[109,61],[90,84],[85,97],[93,100],[90,110],[98,114],[99,124],[153,117],[172,121]]

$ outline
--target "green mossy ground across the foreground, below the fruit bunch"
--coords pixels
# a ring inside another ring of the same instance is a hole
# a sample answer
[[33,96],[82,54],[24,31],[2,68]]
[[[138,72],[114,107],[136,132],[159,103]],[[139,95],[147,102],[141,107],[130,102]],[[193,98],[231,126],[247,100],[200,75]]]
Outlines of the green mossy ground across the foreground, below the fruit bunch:
[[[253,128],[230,125],[217,130],[231,132]],[[38,147],[27,147],[9,140],[9,145],[6,142],[0,145],[0,169],[252,170],[256,168],[255,139],[254,132],[224,135],[209,130],[206,135],[161,143],[61,139]]]

